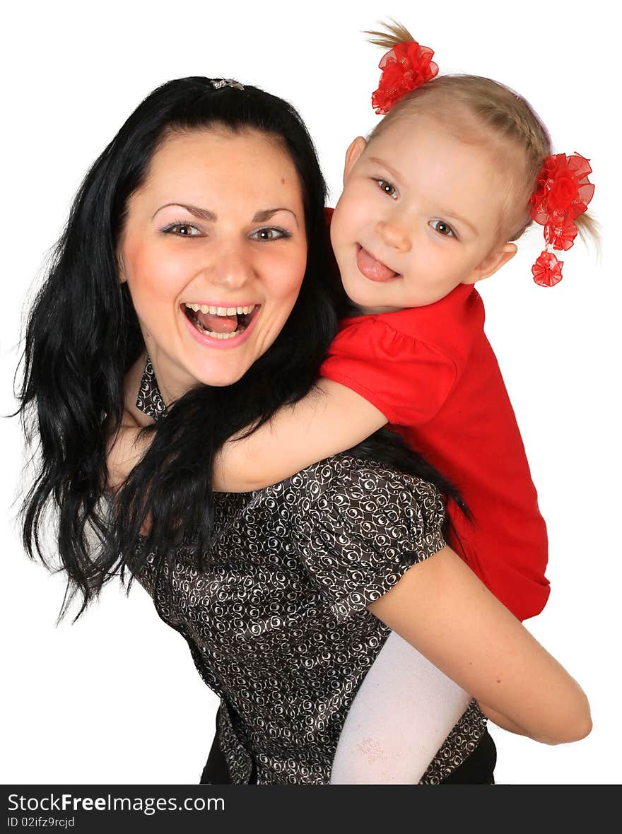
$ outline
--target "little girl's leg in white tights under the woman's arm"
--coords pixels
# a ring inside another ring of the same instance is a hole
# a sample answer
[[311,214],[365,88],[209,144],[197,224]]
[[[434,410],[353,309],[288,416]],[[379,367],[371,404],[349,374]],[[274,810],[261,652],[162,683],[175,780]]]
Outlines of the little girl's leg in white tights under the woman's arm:
[[392,631],[350,707],[331,785],[416,785],[470,700]]

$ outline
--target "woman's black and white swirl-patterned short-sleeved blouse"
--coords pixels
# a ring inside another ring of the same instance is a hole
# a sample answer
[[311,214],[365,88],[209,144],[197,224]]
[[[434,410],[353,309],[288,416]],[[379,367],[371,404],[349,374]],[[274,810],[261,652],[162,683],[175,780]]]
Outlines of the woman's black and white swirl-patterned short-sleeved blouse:
[[[166,414],[150,362],[137,405]],[[254,762],[260,785],[328,784],[349,706],[389,636],[366,605],[443,547],[443,501],[423,480],[343,454],[214,504],[205,570],[182,545],[172,603],[153,554],[138,580],[221,699],[233,783],[248,783]],[[472,701],[421,783],[449,776],[485,726]]]

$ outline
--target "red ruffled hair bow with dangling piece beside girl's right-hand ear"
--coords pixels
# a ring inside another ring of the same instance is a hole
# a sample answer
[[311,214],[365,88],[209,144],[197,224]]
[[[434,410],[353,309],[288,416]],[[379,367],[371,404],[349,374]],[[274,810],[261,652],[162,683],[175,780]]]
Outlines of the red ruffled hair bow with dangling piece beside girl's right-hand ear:
[[567,251],[574,244],[577,236],[574,220],[584,213],[594,195],[594,185],[588,179],[591,171],[589,160],[579,153],[569,157],[555,153],[544,160],[529,198],[529,214],[544,226],[546,248],[531,269],[535,283],[541,287],[552,287],[562,279],[564,262],[551,250]]

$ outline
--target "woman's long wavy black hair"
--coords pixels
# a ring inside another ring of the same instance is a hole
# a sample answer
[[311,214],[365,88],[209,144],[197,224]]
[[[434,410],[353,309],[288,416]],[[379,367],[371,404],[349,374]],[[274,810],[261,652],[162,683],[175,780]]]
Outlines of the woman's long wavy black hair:
[[[144,350],[127,284],[118,280],[128,199],[170,133],[213,125],[258,130],[288,151],[303,191],[302,288],[278,338],[242,379],[189,390],[144,430],[153,442],[111,500],[107,436],[123,416],[123,377]],[[28,555],[50,565],[43,526],[51,508],[53,549],[68,575],[61,615],[76,591],[83,597],[79,616],[113,575],[128,570],[131,582],[149,553],[163,569],[187,535],[201,566],[213,519],[215,453],[234,432],[307,394],[334,336],[339,285],[329,267],[325,193],[313,142],[291,105],[209,78],[180,78],[154,90],[88,171],[28,317],[19,394],[27,440],[40,441],[36,478],[23,500],[23,543]],[[369,454],[378,456],[377,446]],[[137,547],[147,518],[147,539]]]

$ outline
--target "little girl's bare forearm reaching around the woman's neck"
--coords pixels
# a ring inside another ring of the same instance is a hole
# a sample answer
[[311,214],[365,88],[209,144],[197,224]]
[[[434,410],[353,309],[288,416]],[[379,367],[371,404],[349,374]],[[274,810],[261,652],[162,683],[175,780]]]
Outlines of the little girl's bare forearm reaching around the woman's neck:
[[214,489],[250,492],[278,484],[306,466],[351,449],[386,422],[360,394],[320,379],[316,389],[278,409],[260,429],[223,445],[214,465]]

